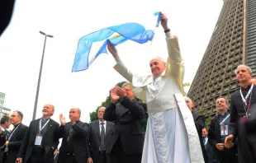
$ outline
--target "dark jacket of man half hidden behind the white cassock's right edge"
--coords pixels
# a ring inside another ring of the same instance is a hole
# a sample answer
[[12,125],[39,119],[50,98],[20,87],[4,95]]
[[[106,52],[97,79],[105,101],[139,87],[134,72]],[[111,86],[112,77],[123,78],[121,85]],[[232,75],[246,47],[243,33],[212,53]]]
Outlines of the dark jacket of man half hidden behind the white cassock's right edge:
[[205,146],[202,142],[202,136],[201,136],[201,130],[205,126],[206,117],[205,117],[204,114],[198,114],[194,110],[192,110],[192,115],[193,115],[193,119],[194,119],[195,124],[196,124],[197,133],[198,133],[198,137],[199,137],[200,144],[201,144],[202,155],[203,155],[204,161],[207,162],[208,157],[207,157],[207,153],[206,153],[206,148],[205,148]]

